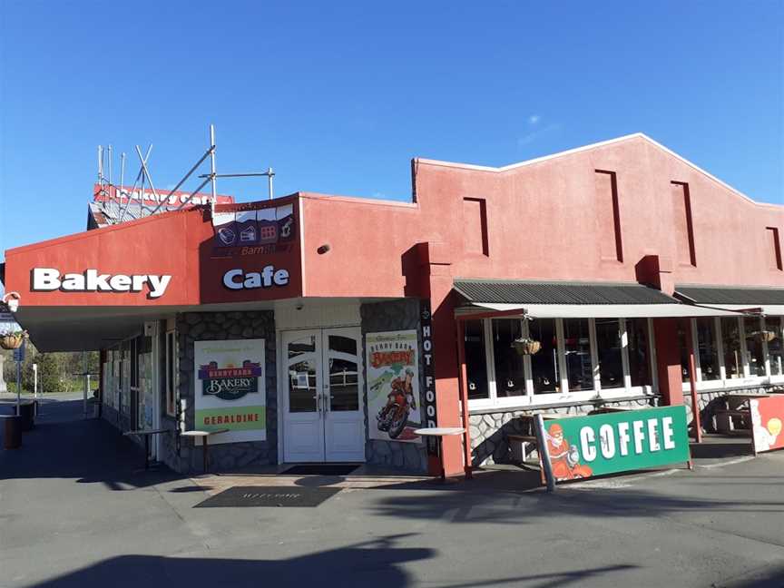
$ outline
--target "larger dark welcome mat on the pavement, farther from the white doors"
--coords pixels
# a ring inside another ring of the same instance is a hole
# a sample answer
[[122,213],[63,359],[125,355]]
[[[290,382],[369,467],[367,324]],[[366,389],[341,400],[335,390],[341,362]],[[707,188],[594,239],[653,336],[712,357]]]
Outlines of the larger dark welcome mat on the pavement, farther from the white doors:
[[194,506],[318,506],[340,488],[301,486],[234,486]]

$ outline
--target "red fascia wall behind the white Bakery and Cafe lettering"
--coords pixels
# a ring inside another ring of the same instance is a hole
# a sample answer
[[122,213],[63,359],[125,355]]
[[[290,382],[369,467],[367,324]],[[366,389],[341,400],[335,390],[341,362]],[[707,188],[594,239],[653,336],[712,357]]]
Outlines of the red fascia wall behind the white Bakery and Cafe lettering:
[[[274,205],[295,202],[279,199]],[[294,208],[299,224],[298,207]],[[242,254],[214,246],[209,210],[167,212],[142,220],[89,230],[5,252],[5,286],[17,291],[25,306],[181,306],[217,302],[284,299],[301,294],[299,238],[275,252]],[[227,270],[261,271],[267,265],[289,271],[289,284],[269,289],[230,290]],[[101,274],[171,275],[165,293],[149,299],[142,292],[34,291],[31,271],[54,268],[65,273],[98,270]]]

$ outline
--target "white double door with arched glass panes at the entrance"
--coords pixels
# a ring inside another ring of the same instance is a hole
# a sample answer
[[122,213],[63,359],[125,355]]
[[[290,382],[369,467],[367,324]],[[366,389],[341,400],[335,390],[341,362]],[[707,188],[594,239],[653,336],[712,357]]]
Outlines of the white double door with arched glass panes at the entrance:
[[365,461],[359,328],[283,331],[286,462]]

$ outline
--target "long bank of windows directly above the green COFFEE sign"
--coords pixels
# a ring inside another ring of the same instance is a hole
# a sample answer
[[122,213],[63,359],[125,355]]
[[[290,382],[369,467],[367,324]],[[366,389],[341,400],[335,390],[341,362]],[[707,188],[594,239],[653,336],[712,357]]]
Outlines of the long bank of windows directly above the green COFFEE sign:
[[[567,395],[587,400],[605,390],[607,397],[622,397],[632,387],[652,385],[649,319],[466,320],[464,333],[468,398],[475,407],[530,406]],[[523,349],[513,347],[519,338],[538,343],[537,351],[521,355]]]

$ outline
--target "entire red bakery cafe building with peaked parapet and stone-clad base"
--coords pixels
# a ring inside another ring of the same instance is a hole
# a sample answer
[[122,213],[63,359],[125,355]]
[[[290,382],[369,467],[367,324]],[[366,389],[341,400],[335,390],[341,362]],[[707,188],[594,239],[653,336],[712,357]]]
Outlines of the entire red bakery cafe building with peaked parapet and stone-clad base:
[[100,350],[102,417],[167,429],[151,457],[180,472],[201,469],[182,433],[207,431],[216,470],[435,474],[414,431],[461,426],[457,474],[511,459],[522,413],[784,384],[781,207],[642,134],[411,179],[408,201],[203,197],[122,222],[99,186],[90,230],[5,251],[5,290],[40,350]]

